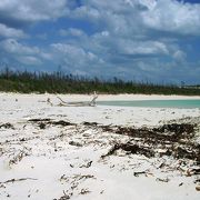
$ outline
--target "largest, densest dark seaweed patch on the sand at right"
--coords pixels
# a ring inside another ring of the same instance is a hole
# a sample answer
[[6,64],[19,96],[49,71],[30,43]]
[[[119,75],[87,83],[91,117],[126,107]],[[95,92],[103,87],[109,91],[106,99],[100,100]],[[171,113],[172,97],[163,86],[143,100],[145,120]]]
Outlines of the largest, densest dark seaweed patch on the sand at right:
[[176,159],[190,159],[200,164],[200,144],[192,142],[194,128],[196,124],[190,123],[163,124],[152,129],[147,127],[137,129],[101,126],[103,131],[129,136],[134,141],[134,144],[131,142],[117,143],[106,156],[113,154],[116,150],[122,149],[130,150],[131,153],[144,154],[148,158],[172,156]]

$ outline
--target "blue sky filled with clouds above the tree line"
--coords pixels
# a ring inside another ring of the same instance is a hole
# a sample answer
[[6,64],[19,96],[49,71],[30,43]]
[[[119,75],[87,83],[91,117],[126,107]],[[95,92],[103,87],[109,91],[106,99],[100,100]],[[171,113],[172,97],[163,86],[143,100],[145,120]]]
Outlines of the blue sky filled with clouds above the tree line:
[[6,66],[200,83],[200,0],[1,0]]

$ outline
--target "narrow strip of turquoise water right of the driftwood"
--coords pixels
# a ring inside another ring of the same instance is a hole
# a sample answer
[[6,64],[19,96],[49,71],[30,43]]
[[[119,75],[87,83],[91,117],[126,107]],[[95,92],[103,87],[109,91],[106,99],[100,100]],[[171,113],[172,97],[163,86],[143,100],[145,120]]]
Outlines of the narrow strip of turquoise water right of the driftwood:
[[150,107],[150,108],[200,108],[199,100],[140,100],[140,101],[98,101],[100,106]]

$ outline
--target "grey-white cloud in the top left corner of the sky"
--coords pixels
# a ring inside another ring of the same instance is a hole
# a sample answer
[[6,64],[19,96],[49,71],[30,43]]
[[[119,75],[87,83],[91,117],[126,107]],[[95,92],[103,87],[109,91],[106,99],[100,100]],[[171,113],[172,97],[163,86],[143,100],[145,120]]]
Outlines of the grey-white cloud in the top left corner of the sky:
[[2,0],[0,22],[9,27],[53,20],[68,12],[67,0]]

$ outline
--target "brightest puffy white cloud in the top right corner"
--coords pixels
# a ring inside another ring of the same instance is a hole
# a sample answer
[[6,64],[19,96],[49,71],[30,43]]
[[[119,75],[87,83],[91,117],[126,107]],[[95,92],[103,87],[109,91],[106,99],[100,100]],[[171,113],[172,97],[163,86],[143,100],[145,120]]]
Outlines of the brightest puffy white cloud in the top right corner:
[[179,34],[200,34],[200,4],[158,0],[141,13],[147,27]]

